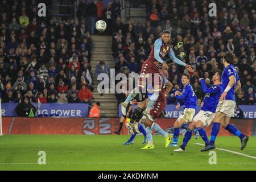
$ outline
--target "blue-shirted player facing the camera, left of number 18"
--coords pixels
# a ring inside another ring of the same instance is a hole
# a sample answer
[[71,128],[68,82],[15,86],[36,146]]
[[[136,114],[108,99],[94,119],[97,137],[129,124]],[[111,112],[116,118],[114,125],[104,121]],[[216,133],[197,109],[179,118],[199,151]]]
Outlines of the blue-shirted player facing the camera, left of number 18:
[[181,77],[181,82],[184,86],[182,93],[179,91],[175,92],[175,97],[178,100],[183,100],[181,104],[176,106],[176,109],[179,109],[181,105],[184,105],[184,111],[181,113],[180,117],[174,123],[174,140],[170,146],[177,147],[177,139],[179,138],[180,128],[188,129],[189,123],[192,121],[193,116],[195,115],[196,108],[196,94],[193,91],[192,86],[189,84],[189,75],[184,73]]

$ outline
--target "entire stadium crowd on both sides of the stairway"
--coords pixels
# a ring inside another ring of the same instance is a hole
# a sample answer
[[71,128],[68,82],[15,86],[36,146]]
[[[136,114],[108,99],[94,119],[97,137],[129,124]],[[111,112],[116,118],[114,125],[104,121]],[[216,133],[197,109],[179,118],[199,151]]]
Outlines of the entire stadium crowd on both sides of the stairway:
[[[46,1],[47,7],[52,1]],[[208,85],[218,69],[223,69],[222,56],[233,52],[242,82],[237,93],[238,104],[256,103],[256,14],[255,1],[218,1],[217,17],[208,16],[212,1],[139,1],[146,5],[146,24],[122,22],[121,5],[114,0],[81,0],[77,18],[62,19],[37,15],[37,1],[1,1],[0,5],[0,87],[3,102],[59,102],[90,104],[93,98],[90,57],[97,19],[108,24],[105,34],[113,36],[112,51],[116,73],[139,73],[152,44],[163,30],[171,31],[171,44],[183,42],[183,61],[194,68],[191,84],[200,104],[204,95],[198,82],[204,77]],[[104,63],[104,60],[101,61]],[[105,63],[104,63],[105,64]],[[108,67],[108,66],[107,66]],[[174,89],[168,104],[177,101],[184,67],[169,64],[168,79]],[[99,67],[100,68],[100,67]],[[117,94],[121,102],[125,94]]]

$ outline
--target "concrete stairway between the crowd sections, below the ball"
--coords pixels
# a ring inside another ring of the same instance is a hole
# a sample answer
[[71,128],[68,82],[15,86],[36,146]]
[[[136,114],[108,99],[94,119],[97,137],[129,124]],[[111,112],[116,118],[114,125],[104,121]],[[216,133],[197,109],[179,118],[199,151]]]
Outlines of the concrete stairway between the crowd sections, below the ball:
[[114,93],[104,94],[100,96],[98,93],[97,86],[98,81],[95,77],[95,68],[100,60],[105,60],[105,63],[109,65],[110,69],[114,68],[114,59],[112,56],[111,46],[112,46],[112,38],[111,36],[92,36],[93,39],[93,49],[92,49],[92,59],[90,61],[90,65],[92,66],[92,77],[94,82],[94,90],[93,90],[93,104],[97,101],[101,103],[100,110],[101,110],[101,117],[118,117],[118,106],[117,106],[117,99],[115,98]]

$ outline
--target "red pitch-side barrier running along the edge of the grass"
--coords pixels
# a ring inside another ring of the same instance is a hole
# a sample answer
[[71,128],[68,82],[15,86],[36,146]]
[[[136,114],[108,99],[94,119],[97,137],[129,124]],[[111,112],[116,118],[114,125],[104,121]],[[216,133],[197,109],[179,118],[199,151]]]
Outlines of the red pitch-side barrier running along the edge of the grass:
[[[119,118],[21,118],[3,117],[3,134],[77,134],[99,135],[113,134],[119,127]],[[175,119],[156,119],[163,130],[170,131]],[[242,133],[254,135],[256,120],[232,119],[233,123]],[[205,127],[210,134],[212,125]],[[122,135],[127,135],[125,126]],[[232,135],[221,128],[219,135]]]

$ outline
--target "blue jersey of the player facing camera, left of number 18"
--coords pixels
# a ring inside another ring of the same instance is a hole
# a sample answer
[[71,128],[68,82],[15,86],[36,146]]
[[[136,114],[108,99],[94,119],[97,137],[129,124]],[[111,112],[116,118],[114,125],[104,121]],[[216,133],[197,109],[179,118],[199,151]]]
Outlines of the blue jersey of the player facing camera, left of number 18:
[[180,96],[175,96],[178,100],[183,100],[180,105],[184,105],[184,108],[196,108],[197,97],[190,84],[187,84],[182,89]]

